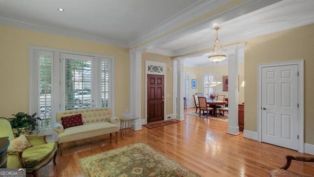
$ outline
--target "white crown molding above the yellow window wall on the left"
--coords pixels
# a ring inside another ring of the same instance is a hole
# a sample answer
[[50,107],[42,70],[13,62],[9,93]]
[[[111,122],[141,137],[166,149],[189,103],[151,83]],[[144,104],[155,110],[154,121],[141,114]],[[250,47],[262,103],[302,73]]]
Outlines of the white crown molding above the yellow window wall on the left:
[[32,21],[26,21],[22,20],[16,17],[9,17],[0,15],[0,25],[10,26],[10,27],[16,27],[20,29],[28,29],[28,30],[34,30],[39,32],[45,32],[49,34],[55,34],[55,35],[61,35],[76,39],[83,39],[93,42],[99,42],[102,44],[107,44],[111,46],[117,46],[122,48],[128,48],[126,41],[121,40],[114,40],[105,38],[101,35],[95,35],[91,33],[81,32],[77,31],[75,29],[64,29],[64,28],[57,28],[54,26],[49,26],[42,23],[32,22]]

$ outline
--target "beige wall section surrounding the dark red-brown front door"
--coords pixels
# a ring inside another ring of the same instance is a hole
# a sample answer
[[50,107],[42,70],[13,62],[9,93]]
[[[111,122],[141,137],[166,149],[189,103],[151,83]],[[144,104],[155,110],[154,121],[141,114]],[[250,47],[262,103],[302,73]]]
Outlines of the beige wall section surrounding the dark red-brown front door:
[[[152,53],[143,53],[142,54],[142,119],[145,119],[145,80],[146,80],[146,61],[156,61],[156,62],[162,62],[166,63],[166,71],[165,71],[165,84],[166,89],[165,91],[165,106],[166,106],[166,115],[172,115],[172,98],[173,98],[173,60],[169,56],[163,56],[158,54],[152,54]],[[170,68],[170,70],[169,70]],[[167,94],[169,96],[167,96]]]

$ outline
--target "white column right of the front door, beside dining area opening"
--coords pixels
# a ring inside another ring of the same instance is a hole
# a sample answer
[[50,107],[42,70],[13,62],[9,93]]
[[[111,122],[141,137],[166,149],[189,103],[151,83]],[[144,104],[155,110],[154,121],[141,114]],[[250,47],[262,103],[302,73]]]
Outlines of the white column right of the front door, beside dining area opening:
[[183,59],[176,59],[177,61],[177,120],[184,120],[183,114],[183,95],[184,95],[184,68]]

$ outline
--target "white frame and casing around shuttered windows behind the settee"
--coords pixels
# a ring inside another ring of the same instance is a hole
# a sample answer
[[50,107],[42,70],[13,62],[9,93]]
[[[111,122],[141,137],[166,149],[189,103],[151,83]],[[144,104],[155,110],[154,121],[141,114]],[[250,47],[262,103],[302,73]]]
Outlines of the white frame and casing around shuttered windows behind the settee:
[[[39,98],[40,98],[40,82],[39,82],[39,51],[48,51],[52,52],[52,100],[51,100],[51,118],[52,118],[52,127],[51,129],[41,130],[38,134],[41,135],[52,135],[52,137],[47,137],[48,139],[55,139],[55,132],[53,131],[53,124],[55,123],[55,116],[57,111],[64,110],[64,86],[62,86],[62,74],[64,72],[64,63],[61,59],[62,53],[75,54],[81,56],[92,56],[94,57],[92,61],[92,67],[95,73],[92,76],[92,82],[97,83],[102,81],[102,62],[109,62],[110,71],[109,71],[109,107],[112,109],[112,115],[115,116],[115,58],[113,56],[98,55],[98,54],[89,54],[74,52],[62,49],[54,49],[41,46],[29,46],[29,74],[28,74],[28,112],[30,114],[37,113],[39,116]],[[93,71],[92,71],[93,72]],[[96,97],[96,95],[102,95],[102,84],[95,84],[93,89],[95,94],[92,93],[92,99],[94,102],[93,107],[102,107],[102,97]],[[59,96],[58,96],[59,95]],[[63,102],[63,103],[62,103]]]

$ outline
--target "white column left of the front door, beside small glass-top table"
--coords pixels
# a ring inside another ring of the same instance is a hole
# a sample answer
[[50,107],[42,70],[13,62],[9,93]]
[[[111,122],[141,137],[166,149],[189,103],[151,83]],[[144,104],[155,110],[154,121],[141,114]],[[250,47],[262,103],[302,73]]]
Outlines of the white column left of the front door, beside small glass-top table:
[[141,87],[142,87],[142,52],[131,49],[130,53],[130,104],[129,111],[132,117],[138,118],[135,120],[134,130],[142,129],[141,118]]

